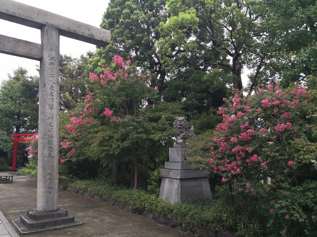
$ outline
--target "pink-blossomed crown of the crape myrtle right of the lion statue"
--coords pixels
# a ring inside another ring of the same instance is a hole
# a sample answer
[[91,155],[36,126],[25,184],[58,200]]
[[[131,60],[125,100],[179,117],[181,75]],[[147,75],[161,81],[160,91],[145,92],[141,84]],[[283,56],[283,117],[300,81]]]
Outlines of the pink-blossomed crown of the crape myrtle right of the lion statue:
[[[279,176],[289,176],[294,171],[292,157],[297,154],[289,150],[289,144],[302,132],[297,114],[308,93],[300,87],[290,91],[271,83],[267,89],[257,88],[251,96],[242,96],[233,89],[232,96],[223,100],[217,111],[222,121],[210,138],[206,163],[210,173],[220,175],[223,185],[237,181],[237,192],[256,198],[265,192],[261,186],[263,176],[278,172]],[[268,200],[268,205],[274,205],[268,209],[274,216],[278,215],[276,202],[270,204]]]

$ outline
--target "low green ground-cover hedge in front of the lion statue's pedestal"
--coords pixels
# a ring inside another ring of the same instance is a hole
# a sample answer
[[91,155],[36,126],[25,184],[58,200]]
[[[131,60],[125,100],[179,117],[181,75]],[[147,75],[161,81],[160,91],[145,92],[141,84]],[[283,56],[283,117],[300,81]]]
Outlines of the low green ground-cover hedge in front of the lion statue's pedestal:
[[75,180],[69,183],[68,187],[108,197],[115,202],[129,204],[133,208],[138,207],[153,214],[171,215],[175,220],[191,222],[193,225],[207,226],[221,231],[235,231],[239,236],[254,236],[254,233],[259,233],[258,222],[247,213],[234,214],[234,210],[229,205],[223,209],[224,205],[219,199],[195,204],[170,204],[165,200],[160,200],[156,195],[146,193],[146,191],[113,186],[110,185],[110,181],[101,179]]

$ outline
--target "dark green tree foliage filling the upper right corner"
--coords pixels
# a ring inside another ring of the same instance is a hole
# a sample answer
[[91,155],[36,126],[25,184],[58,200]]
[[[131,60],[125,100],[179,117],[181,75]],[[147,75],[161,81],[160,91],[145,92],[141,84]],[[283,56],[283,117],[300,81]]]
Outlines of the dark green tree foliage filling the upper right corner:
[[281,80],[283,87],[317,73],[315,0],[266,0],[256,9],[262,19],[263,53],[267,55],[268,79]]

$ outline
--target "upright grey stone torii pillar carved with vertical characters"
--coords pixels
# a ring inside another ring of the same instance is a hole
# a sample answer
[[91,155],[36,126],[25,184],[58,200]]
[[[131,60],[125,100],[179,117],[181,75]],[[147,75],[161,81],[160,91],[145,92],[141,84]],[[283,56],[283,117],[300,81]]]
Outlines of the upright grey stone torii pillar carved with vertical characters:
[[[59,46],[58,29],[41,29],[39,137],[37,164],[37,211],[58,209],[58,133],[59,133]],[[56,136],[57,134],[57,136]],[[42,149],[40,149],[42,148]],[[44,148],[44,149],[43,149]],[[40,159],[45,157],[45,159]],[[49,169],[47,169],[49,167]]]

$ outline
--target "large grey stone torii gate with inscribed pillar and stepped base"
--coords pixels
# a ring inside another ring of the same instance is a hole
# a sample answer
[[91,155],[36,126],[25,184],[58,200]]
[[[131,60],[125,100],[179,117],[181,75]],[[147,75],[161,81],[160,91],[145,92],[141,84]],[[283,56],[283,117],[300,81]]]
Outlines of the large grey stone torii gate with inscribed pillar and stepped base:
[[22,233],[81,225],[58,208],[60,35],[98,46],[110,31],[12,0],[0,0],[0,19],[41,30],[42,44],[0,35],[0,52],[40,61],[37,206],[13,223]]

